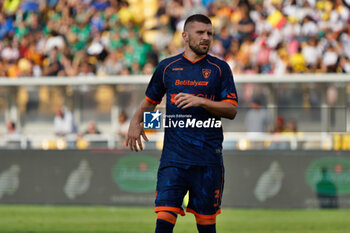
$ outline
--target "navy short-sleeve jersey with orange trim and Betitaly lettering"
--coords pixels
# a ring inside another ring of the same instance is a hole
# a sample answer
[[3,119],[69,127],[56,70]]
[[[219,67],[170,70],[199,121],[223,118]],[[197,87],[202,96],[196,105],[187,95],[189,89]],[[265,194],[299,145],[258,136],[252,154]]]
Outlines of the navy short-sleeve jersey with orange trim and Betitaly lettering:
[[[209,54],[197,61],[190,61],[184,54],[179,54],[159,63],[146,90],[146,100],[153,104],[159,104],[166,94],[163,126],[167,127],[161,162],[199,166],[222,164],[222,127],[211,127],[220,118],[202,107],[178,108],[175,96],[179,93],[227,101],[232,108],[237,106],[237,92],[230,67],[225,61]],[[209,127],[174,125],[179,120],[186,122],[187,118],[207,122]]]

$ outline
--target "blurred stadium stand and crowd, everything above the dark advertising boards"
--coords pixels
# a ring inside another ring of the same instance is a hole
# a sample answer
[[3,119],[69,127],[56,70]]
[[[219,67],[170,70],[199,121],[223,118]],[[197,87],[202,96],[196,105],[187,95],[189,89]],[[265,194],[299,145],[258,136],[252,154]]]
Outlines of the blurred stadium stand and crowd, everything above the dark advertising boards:
[[349,12],[343,0],[2,1],[0,147],[122,147],[158,62],[203,13],[239,93],[227,149],[349,149]]

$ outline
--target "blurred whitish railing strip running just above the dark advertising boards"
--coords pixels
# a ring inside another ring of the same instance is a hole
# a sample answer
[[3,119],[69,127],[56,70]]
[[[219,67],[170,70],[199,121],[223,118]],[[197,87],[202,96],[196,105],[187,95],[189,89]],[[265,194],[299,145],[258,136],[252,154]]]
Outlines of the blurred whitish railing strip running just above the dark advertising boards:
[[[302,135],[249,133],[225,134],[224,150],[331,150],[334,149],[334,136],[330,133],[303,133]],[[150,142],[144,145],[147,150],[162,148],[163,133],[148,135]],[[342,147],[342,146],[341,146]],[[0,138],[0,149],[116,149],[124,148],[122,140],[113,134],[85,135],[75,134],[65,137],[53,135],[15,135]],[[341,149],[341,148],[340,148]]]

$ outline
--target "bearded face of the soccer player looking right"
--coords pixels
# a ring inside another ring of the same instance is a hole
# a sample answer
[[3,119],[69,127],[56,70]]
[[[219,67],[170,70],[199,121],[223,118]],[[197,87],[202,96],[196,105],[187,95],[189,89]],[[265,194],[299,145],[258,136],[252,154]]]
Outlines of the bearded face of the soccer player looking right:
[[192,22],[186,30],[185,41],[190,49],[198,56],[208,53],[213,40],[213,29],[211,24]]

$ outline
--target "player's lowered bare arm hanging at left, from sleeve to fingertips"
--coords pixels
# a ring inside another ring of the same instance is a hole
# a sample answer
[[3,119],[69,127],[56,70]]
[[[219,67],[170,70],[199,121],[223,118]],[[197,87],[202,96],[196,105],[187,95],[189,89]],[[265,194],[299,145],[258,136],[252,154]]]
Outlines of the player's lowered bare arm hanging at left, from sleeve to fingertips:
[[135,112],[133,118],[130,121],[128,136],[126,139],[126,146],[128,146],[130,150],[137,152],[138,151],[137,145],[140,148],[140,150],[143,150],[142,143],[141,143],[141,136],[145,141],[148,142],[148,138],[142,126],[143,112],[153,111],[155,107],[156,107],[156,104],[151,103],[146,99],[144,99],[140,107]]

